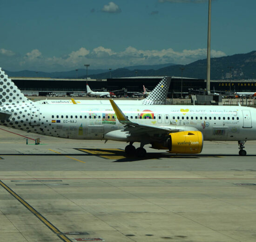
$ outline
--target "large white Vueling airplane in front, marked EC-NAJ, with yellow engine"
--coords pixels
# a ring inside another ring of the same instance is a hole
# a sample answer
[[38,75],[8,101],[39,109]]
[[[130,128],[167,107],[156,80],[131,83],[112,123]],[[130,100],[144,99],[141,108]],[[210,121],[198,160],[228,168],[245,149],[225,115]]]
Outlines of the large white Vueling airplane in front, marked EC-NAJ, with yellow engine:
[[[129,142],[139,157],[151,144],[174,154],[198,154],[203,141],[256,140],[256,109],[241,106],[43,105],[28,100],[0,68],[0,124],[54,137]],[[134,142],[140,147],[135,149]],[[217,152],[217,151],[216,151]],[[217,154],[217,153],[216,153]]]

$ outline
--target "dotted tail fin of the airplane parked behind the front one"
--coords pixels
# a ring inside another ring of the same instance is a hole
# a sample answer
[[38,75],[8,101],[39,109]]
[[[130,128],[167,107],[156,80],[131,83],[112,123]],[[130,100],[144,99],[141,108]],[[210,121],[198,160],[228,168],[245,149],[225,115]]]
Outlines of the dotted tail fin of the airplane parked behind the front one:
[[142,100],[143,105],[147,104],[162,104],[166,101],[169,86],[171,83],[171,76],[165,76],[158,85],[153,89],[149,95]]

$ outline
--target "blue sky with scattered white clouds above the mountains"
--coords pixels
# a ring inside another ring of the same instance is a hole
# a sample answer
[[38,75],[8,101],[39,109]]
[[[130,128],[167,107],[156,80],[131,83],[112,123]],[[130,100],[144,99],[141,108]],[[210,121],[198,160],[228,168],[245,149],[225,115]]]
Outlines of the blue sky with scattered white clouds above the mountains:
[[[0,66],[66,71],[206,58],[208,0],[0,0]],[[256,1],[212,0],[212,57],[256,50]]]

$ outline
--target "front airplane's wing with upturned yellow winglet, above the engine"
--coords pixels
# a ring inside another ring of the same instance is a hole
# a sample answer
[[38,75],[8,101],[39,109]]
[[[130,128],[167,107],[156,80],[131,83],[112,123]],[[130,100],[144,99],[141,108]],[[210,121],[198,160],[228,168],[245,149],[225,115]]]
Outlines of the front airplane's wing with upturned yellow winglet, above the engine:
[[148,132],[150,132],[151,134],[169,134],[169,133],[175,133],[175,132],[180,132],[185,130],[197,131],[197,129],[193,127],[153,126],[153,125],[138,124],[138,123],[132,122],[116,105],[115,101],[113,100],[109,100],[109,101],[112,105],[112,108],[115,111],[118,121],[125,126],[124,132],[129,132],[129,134],[139,135],[139,134],[148,134]]

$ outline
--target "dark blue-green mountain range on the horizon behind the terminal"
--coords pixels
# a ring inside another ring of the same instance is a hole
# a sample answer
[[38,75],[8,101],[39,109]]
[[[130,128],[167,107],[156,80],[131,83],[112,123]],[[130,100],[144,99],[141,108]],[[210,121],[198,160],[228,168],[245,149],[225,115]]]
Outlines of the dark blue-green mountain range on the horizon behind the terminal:
[[[181,73],[181,68],[183,73]],[[229,79],[229,71],[233,80],[256,78],[256,51],[246,54],[234,54],[219,58],[211,58],[211,80]],[[187,65],[173,63],[159,65],[129,66],[111,70],[112,78],[131,76],[181,76],[206,79],[207,59],[198,60]],[[7,71],[9,76],[51,77],[51,78],[86,78],[86,69],[66,72],[36,72],[36,71]],[[106,79],[110,77],[108,69],[89,69],[88,77],[92,79]]]

